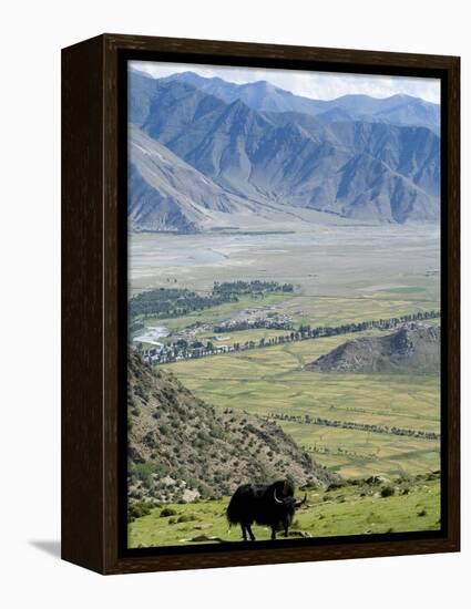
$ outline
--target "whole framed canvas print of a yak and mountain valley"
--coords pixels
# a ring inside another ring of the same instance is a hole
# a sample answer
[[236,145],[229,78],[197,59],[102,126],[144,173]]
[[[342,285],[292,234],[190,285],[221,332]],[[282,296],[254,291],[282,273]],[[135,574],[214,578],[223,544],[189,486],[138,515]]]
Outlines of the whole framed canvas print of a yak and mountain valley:
[[62,557],[458,551],[459,58],[62,51]]

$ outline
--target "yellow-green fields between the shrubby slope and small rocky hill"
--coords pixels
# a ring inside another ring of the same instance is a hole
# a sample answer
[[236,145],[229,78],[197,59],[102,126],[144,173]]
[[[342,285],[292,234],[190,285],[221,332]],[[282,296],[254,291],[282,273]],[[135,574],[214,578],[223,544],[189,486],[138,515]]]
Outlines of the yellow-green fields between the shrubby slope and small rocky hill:
[[[371,333],[371,332],[370,332]],[[356,333],[355,337],[366,336]],[[320,416],[440,432],[440,382],[432,375],[321,374],[304,367],[354,336],[306,340],[168,367],[196,395],[221,407]],[[439,441],[280,422],[342,476],[418,474],[439,468]]]

